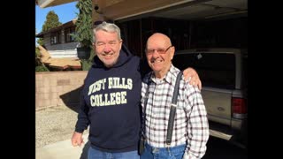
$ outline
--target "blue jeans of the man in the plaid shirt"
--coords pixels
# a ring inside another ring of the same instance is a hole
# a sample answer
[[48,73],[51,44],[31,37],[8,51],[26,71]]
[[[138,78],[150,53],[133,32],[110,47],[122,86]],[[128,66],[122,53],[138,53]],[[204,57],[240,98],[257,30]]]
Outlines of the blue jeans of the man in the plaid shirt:
[[141,159],[182,159],[185,153],[186,144],[172,148],[153,148],[145,144]]

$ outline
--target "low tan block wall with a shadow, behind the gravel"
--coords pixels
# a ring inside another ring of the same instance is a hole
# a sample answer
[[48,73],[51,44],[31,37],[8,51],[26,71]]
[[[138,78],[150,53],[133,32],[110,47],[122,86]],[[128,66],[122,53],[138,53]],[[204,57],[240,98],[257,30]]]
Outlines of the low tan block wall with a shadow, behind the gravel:
[[79,104],[87,72],[36,72],[35,109]]

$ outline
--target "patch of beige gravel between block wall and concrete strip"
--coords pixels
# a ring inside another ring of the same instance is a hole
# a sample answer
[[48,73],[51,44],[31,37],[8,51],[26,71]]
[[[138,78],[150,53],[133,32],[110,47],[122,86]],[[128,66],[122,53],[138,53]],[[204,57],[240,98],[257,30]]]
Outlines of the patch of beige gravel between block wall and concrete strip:
[[78,113],[66,106],[35,112],[35,148],[71,139]]

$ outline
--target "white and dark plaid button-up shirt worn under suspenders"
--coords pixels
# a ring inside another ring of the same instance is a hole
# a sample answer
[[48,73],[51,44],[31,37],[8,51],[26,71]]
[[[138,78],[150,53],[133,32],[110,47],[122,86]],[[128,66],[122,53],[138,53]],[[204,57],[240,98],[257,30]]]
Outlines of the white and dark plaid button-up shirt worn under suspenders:
[[[153,72],[149,72],[142,81],[142,111],[149,87],[149,99],[145,111],[145,135],[147,143],[152,147],[166,148],[172,95],[179,72],[179,69],[171,65],[163,79],[157,79]],[[205,154],[208,138],[209,124],[201,92],[182,78],[171,147],[187,144],[183,158],[201,158]]]

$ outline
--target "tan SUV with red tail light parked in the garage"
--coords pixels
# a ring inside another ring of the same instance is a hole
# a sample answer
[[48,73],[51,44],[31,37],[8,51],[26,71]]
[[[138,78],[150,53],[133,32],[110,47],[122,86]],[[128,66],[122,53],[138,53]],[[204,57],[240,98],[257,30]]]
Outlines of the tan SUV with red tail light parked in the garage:
[[247,49],[187,49],[177,51],[172,64],[195,68],[203,83],[210,135],[245,148],[248,143]]

